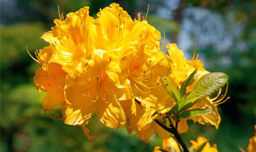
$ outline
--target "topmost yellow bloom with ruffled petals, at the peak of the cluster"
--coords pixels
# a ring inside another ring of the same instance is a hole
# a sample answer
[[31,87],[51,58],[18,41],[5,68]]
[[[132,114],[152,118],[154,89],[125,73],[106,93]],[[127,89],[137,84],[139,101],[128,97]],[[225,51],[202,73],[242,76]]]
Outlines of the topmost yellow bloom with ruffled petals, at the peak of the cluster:
[[[145,29],[143,24],[136,24],[119,4],[100,9],[94,24],[97,25],[98,38],[96,49],[103,50],[108,57],[121,60],[122,57],[136,50],[139,35]],[[113,59],[112,59],[113,60]]]

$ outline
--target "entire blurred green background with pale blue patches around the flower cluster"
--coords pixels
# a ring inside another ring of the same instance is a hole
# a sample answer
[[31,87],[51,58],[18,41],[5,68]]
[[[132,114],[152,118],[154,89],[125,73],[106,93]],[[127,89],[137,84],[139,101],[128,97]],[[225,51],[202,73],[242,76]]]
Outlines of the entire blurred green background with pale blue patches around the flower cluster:
[[[219,130],[193,124],[182,134],[184,140],[197,136],[216,143],[220,152],[246,147],[256,124],[256,1],[250,0],[0,0],[0,151],[152,151],[161,146],[153,135],[149,144],[124,127],[112,130],[93,118],[88,142],[79,126],[69,126],[48,118],[41,109],[44,93],[33,86],[39,64],[25,50],[42,49],[40,39],[50,30],[61,12],[75,12],[90,6],[94,18],[100,8],[118,2],[132,18],[145,15],[167,42],[177,43],[191,59],[197,43],[199,59],[208,71],[229,75],[228,102],[218,106],[222,117]],[[163,33],[162,33],[163,34]]]

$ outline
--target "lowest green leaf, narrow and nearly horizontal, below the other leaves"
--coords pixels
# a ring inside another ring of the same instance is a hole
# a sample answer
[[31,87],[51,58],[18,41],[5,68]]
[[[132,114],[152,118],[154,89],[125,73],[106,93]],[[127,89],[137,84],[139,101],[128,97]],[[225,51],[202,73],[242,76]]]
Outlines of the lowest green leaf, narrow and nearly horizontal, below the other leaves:
[[200,115],[206,115],[209,113],[212,113],[212,109],[203,109],[201,110],[200,108],[197,109],[192,109],[192,110],[187,110],[182,113],[180,113],[181,118],[188,118],[188,117],[193,117],[193,116],[200,116]]

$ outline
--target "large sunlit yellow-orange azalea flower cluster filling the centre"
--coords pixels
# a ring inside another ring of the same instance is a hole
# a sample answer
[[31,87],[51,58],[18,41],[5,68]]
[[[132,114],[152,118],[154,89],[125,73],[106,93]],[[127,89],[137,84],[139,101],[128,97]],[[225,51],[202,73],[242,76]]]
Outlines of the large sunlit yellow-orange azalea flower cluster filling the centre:
[[[160,32],[148,24],[147,16],[141,19],[139,13],[138,20],[133,20],[119,4],[109,6],[100,9],[97,19],[89,16],[89,7],[67,14],[65,20],[60,16],[54,20],[55,27],[42,36],[49,46],[36,52],[42,67],[34,76],[37,90],[47,92],[42,108],[53,119],[81,126],[91,141],[95,137],[89,135],[86,125],[94,114],[108,127],[124,125],[128,133],[136,131],[145,142],[154,132],[169,139],[167,131],[154,121],[163,116],[151,117],[156,111],[168,112],[175,103],[159,77],[180,88],[197,68],[194,84],[187,87],[190,92],[209,72],[195,54],[187,61],[176,44],[167,44],[166,55],[158,42]],[[188,119],[217,129],[220,116],[216,105],[226,101],[222,101],[226,93],[216,100],[219,95],[191,107],[209,107],[213,113]],[[59,115],[50,115],[51,111]],[[180,120],[180,133],[187,132],[186,121]]]

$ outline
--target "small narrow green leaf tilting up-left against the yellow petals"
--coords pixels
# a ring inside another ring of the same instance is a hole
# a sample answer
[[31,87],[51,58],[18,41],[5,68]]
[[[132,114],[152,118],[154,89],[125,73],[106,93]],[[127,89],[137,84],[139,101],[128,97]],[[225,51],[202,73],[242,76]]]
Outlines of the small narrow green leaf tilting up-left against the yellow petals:
[[180,101],[181,99],[180,92],[177,88],[175,88],[172,82],[162,77],[160,77],[160,82],[162,86],[165,87],[168,95],[170,95],[176,102]]

